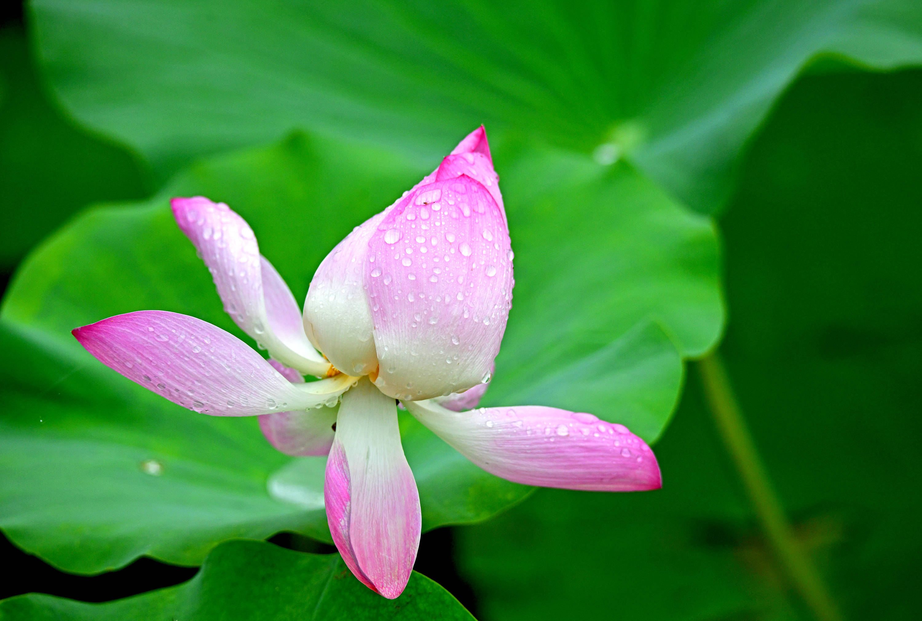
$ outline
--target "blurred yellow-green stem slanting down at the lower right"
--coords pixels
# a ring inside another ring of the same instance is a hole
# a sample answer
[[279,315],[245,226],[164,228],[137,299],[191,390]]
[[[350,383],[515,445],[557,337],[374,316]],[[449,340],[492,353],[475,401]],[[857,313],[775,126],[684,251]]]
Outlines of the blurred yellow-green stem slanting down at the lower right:
[[823,584],[819,571],[795,538],[785,510],[774,493],[746,421],[739,412],[720,355],[716,352],[709,354],[698,361],[698,367],[717,429],[736,463],[739,477],[762,524],[762,530],[787,578],[817,619],[842,621],[842,615]]

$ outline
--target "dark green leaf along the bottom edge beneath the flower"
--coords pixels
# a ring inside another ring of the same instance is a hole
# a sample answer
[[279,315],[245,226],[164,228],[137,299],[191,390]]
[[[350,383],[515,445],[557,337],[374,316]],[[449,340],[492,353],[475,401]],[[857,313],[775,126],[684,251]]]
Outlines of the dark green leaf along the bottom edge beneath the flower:
[[396,600],[361,584],[339,555],[310,555],[271,543],[232,541],[208,555],[182,585],[109,603],[83,603],[30,593],[4,600],[9,621],[148,621],[183,619],[470,620],[448,591],[414,573]]

